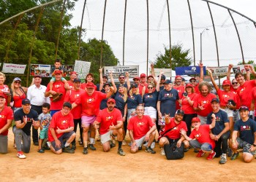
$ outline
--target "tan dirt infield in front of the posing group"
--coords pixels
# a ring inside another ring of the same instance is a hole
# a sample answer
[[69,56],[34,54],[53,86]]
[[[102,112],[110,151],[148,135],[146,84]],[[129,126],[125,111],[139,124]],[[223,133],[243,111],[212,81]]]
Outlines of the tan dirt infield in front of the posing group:
[[9,153],[0,154],[1,181],[255,181],[256,159],[251,163],[227,159],[219,165],[219,159],[196,158],[189,150],[184,159],[167,161],[161,156],[158,144],[157,154],[144,150],[129,153],[129,146],[123,146],[126,156],[117,154],[117,146],[105,153],[99,142],[97,151],[82,154],[77,145],[75,154],[53,154],[37,152],[31,145],[26,159],[18,159],[12,147],[13,134],[9,132]]

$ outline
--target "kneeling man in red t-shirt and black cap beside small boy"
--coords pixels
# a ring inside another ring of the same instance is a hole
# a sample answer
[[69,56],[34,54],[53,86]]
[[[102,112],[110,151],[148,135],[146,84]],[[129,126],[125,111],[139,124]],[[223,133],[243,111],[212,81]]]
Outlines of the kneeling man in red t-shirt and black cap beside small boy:
[[[70,143],[75,139],[73,115],[70,113],[71,103],[64,103],[61,111],[56,112],[50,121],[48,132],[48,142],[50,150],[55,154],[63,152],[74,154],[75,151],[70,149]],[[64,144],[64,140],[67,140]]]

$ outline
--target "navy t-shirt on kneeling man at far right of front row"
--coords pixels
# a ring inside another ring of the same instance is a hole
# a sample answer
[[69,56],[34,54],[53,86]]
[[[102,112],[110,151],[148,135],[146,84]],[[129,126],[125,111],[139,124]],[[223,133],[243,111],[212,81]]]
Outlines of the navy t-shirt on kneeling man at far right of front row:
[[256,122],[250,118],[246,122],[239,119],[234,125],[234,131],[239,132],[242,141],[252,145],[255,142]]

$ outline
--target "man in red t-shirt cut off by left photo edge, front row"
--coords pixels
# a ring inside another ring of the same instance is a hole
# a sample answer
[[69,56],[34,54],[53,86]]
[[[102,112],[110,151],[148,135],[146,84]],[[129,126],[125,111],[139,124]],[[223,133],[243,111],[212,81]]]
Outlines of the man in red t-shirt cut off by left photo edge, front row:
[[7,154],[8,129],[12,125],[13,111],[5,106],[7,100],[5,95],[0,93],[0,154]]

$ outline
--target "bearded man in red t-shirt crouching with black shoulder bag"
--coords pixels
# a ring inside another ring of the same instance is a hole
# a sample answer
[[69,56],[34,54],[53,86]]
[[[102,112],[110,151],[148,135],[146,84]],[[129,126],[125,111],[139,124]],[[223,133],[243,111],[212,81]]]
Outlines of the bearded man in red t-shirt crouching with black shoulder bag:
[[[174,117],[170,118],[170,115],[165,115],[165,135],[159,141],[159,146],[161,148],[172,143],[177,143],[177,147],[180,147],[182,142],[184,143],[185,149],[189,148],[189,142],[186,141],[180,133],[181,129],[187,132],[187,124],[182,121],[183,116],[184,111],[181,109],[176,111]],[[164,151],[161,151],[161,154],[164,155]]]

